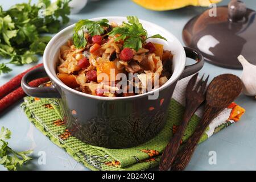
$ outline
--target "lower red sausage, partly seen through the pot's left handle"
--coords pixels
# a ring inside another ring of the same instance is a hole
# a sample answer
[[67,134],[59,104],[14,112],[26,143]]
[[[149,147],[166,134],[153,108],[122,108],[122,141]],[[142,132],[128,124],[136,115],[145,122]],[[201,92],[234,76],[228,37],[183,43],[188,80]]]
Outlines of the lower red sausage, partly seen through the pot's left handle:
[[[30,86],[39,86],[45,82],[49,81],[49,78],[39,78],[37,80],[33,80],[29,83]],[[9,93],[7,96],[3,97],[0,100],[0,112],[5,110],[10,105],[14,104],[16,101],[20,100],[26,96],[26,93],[22,90],[21,87]]]

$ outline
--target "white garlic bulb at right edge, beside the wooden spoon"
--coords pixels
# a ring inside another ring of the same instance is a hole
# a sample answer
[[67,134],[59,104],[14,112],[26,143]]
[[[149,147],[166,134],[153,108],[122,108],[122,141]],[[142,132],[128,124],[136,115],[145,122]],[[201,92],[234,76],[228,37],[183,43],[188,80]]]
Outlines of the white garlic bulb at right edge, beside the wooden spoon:
[[243,66],[241,80],[243,82],[243,93],[247,96],[256,96],[256,65],[249,63],[242,55],[238,60]]

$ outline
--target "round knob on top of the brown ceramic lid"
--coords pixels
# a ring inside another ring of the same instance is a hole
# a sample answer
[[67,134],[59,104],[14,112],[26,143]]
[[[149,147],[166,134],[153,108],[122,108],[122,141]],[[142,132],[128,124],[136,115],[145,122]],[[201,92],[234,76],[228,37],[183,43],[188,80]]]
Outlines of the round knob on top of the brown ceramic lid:
[[229,20],[231,22],[239,22],[243,20],[246,14],[246,5],[242,1],[231,0],[228,6]]

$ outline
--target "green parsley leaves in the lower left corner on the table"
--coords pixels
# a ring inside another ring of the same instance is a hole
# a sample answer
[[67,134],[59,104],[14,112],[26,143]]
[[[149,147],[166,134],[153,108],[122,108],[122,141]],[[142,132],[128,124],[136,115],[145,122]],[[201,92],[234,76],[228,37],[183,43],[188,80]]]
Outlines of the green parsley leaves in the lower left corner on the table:
[[6,139],[11,138],[11,131],[2,127],[0,131],[0,164],[5,166],[8,170],[16,171],[17,167],[22,166],[31,158],[27,156],[32,151],[16,152],[8,146]]

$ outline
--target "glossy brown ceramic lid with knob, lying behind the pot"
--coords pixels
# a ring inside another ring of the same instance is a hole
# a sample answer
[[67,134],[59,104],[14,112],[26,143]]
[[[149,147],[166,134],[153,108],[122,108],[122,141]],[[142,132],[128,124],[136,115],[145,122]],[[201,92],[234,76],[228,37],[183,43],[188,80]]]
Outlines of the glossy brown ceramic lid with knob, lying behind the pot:
[[183,29],[186,46],[203,53],[205,60],[226,68],[242,69],[237,60],[243,55],[256,65],[256,13],[245,3],[230,1],[228,6],[208,9],[195,16]]

